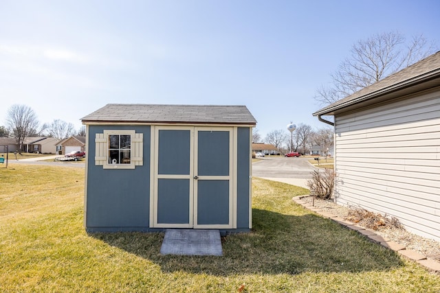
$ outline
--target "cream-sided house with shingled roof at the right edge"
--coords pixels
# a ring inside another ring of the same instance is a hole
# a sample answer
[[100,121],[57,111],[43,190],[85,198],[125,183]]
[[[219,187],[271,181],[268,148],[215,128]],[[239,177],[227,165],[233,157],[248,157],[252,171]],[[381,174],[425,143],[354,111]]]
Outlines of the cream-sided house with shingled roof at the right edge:
[[440,51],[314,116],[334,125],[339,204],[440,241]]

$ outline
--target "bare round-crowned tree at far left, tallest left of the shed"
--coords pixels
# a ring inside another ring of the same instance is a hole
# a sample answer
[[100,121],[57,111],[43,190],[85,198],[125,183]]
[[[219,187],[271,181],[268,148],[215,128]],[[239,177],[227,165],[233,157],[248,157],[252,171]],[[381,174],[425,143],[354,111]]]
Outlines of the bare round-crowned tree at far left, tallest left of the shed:
[[39,121],[36,114],[32,108],[25,105],[12,105],[8,110],[6,124],[10,128],[21,151],[23,151],[25,138],[38,133]]

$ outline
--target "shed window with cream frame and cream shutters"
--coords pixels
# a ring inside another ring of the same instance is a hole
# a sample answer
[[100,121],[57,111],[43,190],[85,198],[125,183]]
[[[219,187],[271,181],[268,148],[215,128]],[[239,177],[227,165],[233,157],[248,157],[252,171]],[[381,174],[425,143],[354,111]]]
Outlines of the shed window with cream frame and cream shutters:
[[135,169],[143,165],[143,134],[135,130],[96,133],[95,165],[104,169]]

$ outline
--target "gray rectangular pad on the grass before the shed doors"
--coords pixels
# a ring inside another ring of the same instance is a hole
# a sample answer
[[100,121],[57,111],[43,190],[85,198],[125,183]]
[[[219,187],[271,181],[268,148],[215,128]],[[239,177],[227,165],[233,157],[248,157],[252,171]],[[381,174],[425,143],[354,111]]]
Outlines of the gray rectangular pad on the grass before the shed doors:
[[160,253],[162,255],[222,256],[220,231],[167,229]]

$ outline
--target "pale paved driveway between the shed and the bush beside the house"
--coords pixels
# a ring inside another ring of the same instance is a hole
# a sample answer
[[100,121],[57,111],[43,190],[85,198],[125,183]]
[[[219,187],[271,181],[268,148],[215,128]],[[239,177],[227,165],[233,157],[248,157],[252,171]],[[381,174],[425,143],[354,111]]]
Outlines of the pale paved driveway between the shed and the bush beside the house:
[[265,156],[252,163],[252,176],[307,187],[307,179],[316,169],[306,158]]

